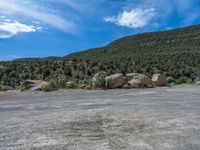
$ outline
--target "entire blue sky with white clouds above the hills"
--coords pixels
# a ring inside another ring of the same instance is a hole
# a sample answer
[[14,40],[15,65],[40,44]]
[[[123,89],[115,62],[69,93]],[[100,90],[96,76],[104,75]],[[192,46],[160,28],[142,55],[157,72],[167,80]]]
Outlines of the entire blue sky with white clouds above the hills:
[[65,56],[200,23],[200,0],[0,0],[0,60]]

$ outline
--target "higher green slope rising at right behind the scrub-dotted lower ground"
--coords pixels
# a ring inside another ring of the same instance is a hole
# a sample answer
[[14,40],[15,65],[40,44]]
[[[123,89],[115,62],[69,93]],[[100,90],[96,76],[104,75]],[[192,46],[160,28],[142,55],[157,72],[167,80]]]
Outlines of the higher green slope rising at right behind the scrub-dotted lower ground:
[[200,51],[200,25],[179,28],[163,32],[143,33],[128,36],[103,47],[80,53],[74,53],[67,58],[87,60],[110,59],[113,57],[134,57],[135,54],[146,53],[179,53]]

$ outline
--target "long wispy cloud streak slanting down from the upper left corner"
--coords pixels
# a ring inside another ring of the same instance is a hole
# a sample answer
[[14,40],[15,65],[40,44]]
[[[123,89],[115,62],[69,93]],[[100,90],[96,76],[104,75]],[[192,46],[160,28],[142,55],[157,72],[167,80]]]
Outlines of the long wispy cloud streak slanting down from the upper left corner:
[[0,14],[39,21],[65,32],[74,33],[76,25],[73,21],[60,15],[57,9],[51,9],[49,2],[46,0],[0,0]]

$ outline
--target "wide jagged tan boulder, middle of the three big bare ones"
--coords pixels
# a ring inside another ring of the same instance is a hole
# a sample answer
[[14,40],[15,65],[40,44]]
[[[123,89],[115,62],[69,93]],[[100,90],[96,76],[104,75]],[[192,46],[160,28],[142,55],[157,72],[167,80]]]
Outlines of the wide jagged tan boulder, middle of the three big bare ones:
[[128,84],[132,88],[150,87],[152,85],[151,79],[143,74],[138,74],[138,73],[127,74],[126,78],[127,80],[130,79],[128,81]]

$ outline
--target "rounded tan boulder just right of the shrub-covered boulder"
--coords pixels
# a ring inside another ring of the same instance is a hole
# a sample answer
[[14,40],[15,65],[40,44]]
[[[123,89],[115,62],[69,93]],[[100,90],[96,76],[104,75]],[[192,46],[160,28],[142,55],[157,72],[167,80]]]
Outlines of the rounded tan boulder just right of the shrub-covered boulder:
[[119,73],[106,77],[105,81],[105,85],[107,88],[114,89],[122,87],[125,83],[125,78],[121,73]]

